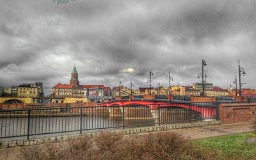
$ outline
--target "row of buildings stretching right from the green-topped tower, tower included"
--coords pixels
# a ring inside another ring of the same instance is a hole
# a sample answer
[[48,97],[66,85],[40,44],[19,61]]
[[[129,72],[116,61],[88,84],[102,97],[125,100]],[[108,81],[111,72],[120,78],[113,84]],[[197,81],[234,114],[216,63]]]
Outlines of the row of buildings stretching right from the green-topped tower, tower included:
[[[205,83],[205,96],[218,97],[228,96],[232,93],[232,87],[230,89],[221,89],[221,87],[214,86],[212,83]],[[127,96],[133,95],[167,95],[172,94],[173,96],[202,96],[202,83],[196,83],[189,86],[173,85],[171,87],[164,88],[159,86],[154,87],[140,87],[138,89],[129,89],[120,85],[118,87],[106,87],[100,85],[83,85],[79,84],[78,73],[76,66],[74,66],[71,73],[70,83],[61,84],[58,83],[52,87],[51,96],[56,98],[65,97],[84,97],[89,99],[105,99],[116,96]]]

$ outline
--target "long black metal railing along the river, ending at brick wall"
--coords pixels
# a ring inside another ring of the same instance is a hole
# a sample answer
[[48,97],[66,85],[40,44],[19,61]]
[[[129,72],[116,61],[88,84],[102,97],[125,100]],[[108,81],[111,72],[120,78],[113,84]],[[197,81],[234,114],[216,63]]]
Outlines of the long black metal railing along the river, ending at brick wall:
[[215,103],[0,110],[0,138],[215,119]]

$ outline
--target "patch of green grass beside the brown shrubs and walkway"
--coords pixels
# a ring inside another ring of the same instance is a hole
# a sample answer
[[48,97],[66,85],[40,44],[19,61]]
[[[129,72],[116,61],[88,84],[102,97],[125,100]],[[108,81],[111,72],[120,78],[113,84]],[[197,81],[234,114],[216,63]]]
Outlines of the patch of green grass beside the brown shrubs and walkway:
[[244,140],[256,137],[256,133],[218,136],[196,140],[199,147],[217,150],[228,159],[256,159],[256,143],[245,143]]

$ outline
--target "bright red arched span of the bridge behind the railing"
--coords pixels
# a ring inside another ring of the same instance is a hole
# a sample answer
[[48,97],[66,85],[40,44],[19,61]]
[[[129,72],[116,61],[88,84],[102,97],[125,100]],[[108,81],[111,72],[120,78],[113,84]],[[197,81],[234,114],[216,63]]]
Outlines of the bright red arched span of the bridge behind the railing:
[[163,101],[143,101],[143,100],[128,100],[128,101],[112,101],[103,103],[98,106],[148,106],[151,110],[157,108],[172,109],[172,108],[186,108],[195,112],[202,113],[202,118],[214,118],[216,116],[215,102],[163,102]]

